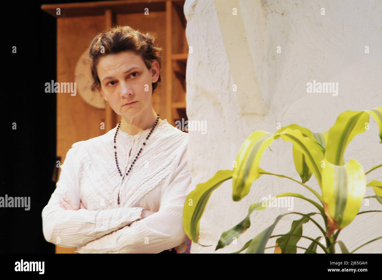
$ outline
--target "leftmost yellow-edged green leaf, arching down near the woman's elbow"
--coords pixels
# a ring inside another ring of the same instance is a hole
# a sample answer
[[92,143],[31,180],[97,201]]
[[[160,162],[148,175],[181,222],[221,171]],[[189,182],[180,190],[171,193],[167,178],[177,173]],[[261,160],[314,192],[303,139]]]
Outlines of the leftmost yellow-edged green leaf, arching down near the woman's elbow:
[[[183,208],[183,225],[188,238],[201,245],[199,240],[199,222],[207,202],[214,190],[232,178],[232,170],[219,170],[207,182],[197,184],[195,190],[186,197]],[[201,245],[205,246],[205,245]],[[210,245],[208,245],[210,246]]]

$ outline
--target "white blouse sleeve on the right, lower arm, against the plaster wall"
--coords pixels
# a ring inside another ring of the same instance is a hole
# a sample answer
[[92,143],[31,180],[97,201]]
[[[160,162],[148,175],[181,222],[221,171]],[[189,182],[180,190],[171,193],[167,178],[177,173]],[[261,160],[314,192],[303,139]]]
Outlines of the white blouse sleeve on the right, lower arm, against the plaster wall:
[[90,241],[76,253],[160,253],[180,245],[187,235],[183,226],[183,207],[191,183],[186,160],[187,148],[161,197],[159,211],[131,225]]

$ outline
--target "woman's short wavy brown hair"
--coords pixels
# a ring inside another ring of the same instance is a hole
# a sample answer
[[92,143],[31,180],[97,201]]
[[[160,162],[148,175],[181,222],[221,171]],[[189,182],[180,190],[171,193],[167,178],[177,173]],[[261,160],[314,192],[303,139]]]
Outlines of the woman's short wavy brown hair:
[[[103,48],[102,48],[103,47]],[[102,52],[101,52],[102,49]],[[157,60],[159,69],[162,66],[162,48],[155,44],[155,37],[149,33],[143,34],[130,26],[113,26],[107,31],[97,34],[89,49],[89,62],[92,73],[91,90],[101,87],[97,74],[97,64],[102,55],[117,54],[121,51],[134,51],[140,55],[146,64],[147,69],[151,69],[153,61]],[[152,84],[152,93],[158,86],[159,78]]]

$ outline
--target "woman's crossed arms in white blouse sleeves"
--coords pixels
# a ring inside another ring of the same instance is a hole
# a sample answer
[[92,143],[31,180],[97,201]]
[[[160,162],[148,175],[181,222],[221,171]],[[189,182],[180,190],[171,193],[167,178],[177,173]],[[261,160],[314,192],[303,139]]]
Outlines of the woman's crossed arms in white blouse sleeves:
[[[66,154],[56,189],[42,210],[47,241],[63,247],[77,247],[77,253],[159,253],[185,241],[183,206],[191,183],[186,149],[175,172],[168,178],[159,211],[144,219],[141,219],[144,207],[93,211],[80,208],[73,153],[71,148]],[[78,210],[61,208],[63,196]]]

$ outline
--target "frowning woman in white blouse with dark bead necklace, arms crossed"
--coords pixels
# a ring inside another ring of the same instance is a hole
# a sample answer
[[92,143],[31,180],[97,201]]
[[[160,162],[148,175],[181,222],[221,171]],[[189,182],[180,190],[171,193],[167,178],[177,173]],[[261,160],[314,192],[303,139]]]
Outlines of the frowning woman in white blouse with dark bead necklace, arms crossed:
[[47,241],[76,253],[189,253],[183,229],[188,134],[152,107],[162,50],[154,42],[128,26],[92,40],[91,88],[121,122],[68,150],[42,211]]

